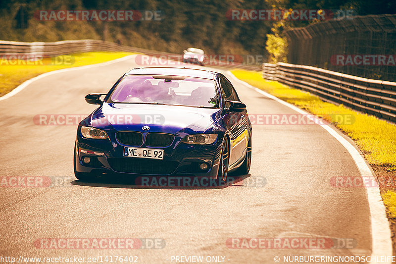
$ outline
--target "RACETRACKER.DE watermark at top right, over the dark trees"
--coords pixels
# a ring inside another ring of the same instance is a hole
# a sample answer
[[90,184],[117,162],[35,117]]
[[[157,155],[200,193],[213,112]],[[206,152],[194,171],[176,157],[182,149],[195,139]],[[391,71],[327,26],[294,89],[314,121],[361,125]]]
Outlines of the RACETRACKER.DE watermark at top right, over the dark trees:
[[322,10],[322,9],[229,9],[226,12],[228,20],[332,20],[351,19],[353,10]]

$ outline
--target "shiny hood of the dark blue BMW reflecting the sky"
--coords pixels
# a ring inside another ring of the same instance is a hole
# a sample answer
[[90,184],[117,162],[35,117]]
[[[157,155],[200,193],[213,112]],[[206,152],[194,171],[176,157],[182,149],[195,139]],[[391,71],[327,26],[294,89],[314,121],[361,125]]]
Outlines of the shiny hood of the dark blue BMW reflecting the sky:
[[[205,131],[220,116],[220,109],[189,106],[103,103],[91,115],[94,127],[176,134]],[[143,130],[148,126],[148,130]]]

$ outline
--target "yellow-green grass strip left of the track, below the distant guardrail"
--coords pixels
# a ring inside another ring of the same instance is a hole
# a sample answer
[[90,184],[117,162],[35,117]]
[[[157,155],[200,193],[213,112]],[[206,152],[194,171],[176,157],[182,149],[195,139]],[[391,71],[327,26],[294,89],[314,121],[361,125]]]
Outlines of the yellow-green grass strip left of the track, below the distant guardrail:
[[[113,60],[116,58],[131,55],[133,53],[125,52],[89,52],[89,53],[75,53],[70,55],[61,55],[53,58],[43,59],[43,63],[38,62],[37,65],[7,65],[6,60],[0,61],[0,96],[7,94],[12,89],[16,88],[18,85],[24,81],[31,79],[37,75],[45,72],[78,67],[83,65],[95,64],[100,62],[105,62]],[[71,59],[71,60],[68,60]],[[67,61],[67,63],[52,63],[51,61]],[[69,63],[71,61],[72,63]],[[50,65],[48,65],[50,64]],[[60,65],[59,65],[60,64]],[[63,64],[63,65],[62,65]]]

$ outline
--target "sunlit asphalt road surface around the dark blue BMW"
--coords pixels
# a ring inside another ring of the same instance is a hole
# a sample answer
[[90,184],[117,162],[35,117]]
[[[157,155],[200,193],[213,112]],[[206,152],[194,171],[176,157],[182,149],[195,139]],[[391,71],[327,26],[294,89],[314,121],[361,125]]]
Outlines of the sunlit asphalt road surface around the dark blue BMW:
[[[113,263],[115,256],[137,256],[139,263],[180,263],[172,256],[203,256],[207,263],[207,256],[222,256],[224,263],[239,264],[276,263],[275,256],[284,263],[283,256],[291,255],[371,254],[365,188],[330,184],[332,177],[355,177],[359,171],[346,149],[318,125],[254,125],[250,174],[224,188],[140,188],[128,182],[75,180],[77,126],[37,125],[34,116],[88,115],[96,106],[87,104],[84,96],[106,93],[134,67],[130,59],[57,73],[0,102],[0,256],[112,256]],[[250,115],[295,113],[230,80]],[[48,188],[7,186],[12,177],[57,177],[64,183]],[[263,179],[265,186],[252,186]],[[276,237],[347,238],[354,243],[341,249],[226,245],[229,238]],[[35,245],[37,239],[49,238],[158,238],[166,245],[134,250]]]

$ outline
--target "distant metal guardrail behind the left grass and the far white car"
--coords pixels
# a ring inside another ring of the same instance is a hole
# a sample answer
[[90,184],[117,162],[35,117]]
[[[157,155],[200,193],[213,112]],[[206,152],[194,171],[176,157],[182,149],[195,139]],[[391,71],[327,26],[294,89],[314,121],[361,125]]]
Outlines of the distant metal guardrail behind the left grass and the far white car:
[[[165,56],[166,59],[182,61],[182,54],[158,52],[147,49],[134,48],[129,46],[122,46],[112,42],[101,40],[67,40],[57,42],[16,42],[16,41],[0,41],[0,55],[15,55],[15,54],[29,54],[29,55],[45,55],[56,56],[70,53],[83,52],[134,52],[143,53],[151,56]],[[259,65],[243,65],[239,63],[224,63],[219,60],[211,60],[213,64],[210,66],[223,68],[241,68],[247,70],[260,70]],[[216,63],[217,61],[217,63]]]

